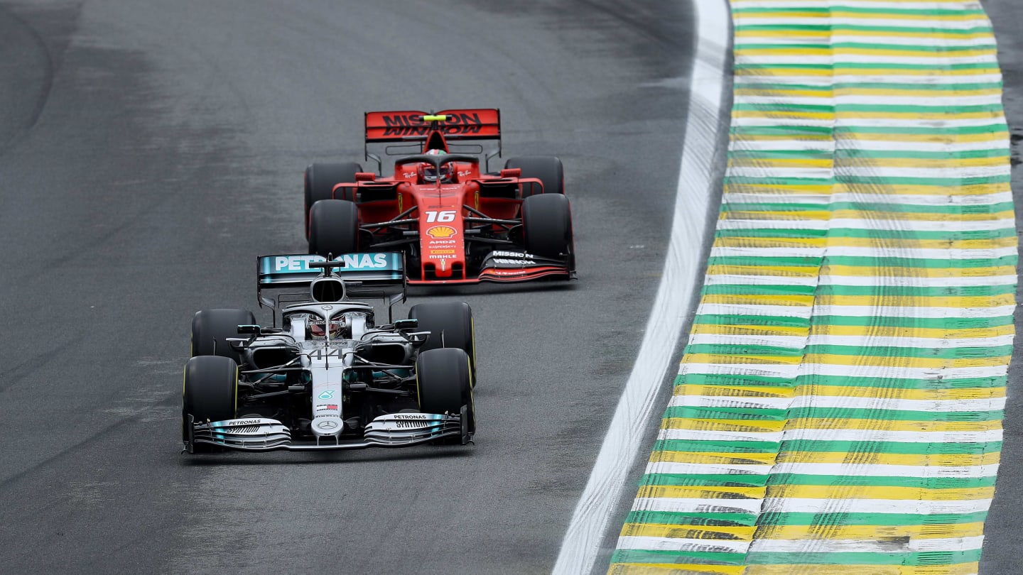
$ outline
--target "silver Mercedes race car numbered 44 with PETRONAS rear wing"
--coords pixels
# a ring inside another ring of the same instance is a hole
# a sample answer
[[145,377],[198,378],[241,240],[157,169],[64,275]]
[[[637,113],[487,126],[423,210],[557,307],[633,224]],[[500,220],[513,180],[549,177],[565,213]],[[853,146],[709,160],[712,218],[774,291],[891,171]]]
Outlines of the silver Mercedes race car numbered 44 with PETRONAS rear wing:
[[[203,310],[192,319],[184,370],[182,440],[187,452],[318,450],[469,443],[473,403],[473,315],[462,302],[422,303],[393,320],[405,301],[399,253],[258,260],[260,306]],[[264,295],[265,289],[306,288]],[[389,286],[400,289],[391,290]],[[388,320],[357,301],[383,297]],[[277,325],[277,317],[280,324]]]

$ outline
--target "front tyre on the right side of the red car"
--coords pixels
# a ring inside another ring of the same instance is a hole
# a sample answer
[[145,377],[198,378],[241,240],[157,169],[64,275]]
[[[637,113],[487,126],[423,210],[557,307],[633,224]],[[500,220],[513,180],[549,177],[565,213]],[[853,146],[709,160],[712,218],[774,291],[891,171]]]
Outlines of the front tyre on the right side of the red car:
[[522,203],[522,228],[526,251],[545,258],[569,257],[575,269],[572,244],[572,210],[564,195],[531,195]]

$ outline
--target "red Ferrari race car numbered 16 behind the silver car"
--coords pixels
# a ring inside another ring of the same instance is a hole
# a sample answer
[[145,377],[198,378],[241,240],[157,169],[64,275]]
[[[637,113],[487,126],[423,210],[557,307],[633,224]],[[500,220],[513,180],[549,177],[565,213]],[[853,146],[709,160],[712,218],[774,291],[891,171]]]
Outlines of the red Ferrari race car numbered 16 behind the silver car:
[[[384,176],[370,144],[396,157],[393,174]],[[491,172],[499,110],[368,112],[364,149],[375,173],[355,163],[306,168],[310,254],[400,250],[409,283],[575,277],[562,162],[511,158]]]

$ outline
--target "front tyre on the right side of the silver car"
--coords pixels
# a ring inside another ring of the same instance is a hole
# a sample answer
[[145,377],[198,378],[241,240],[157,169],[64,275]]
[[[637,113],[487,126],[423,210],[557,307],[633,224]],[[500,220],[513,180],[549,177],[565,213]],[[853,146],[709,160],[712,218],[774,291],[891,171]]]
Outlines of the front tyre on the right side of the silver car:
[[415,387],[419,395],[419,411],[456,414],[464,406],[469,433],[476,433],[473,374],[465,352],[442,348],[420,353],[415,360]]

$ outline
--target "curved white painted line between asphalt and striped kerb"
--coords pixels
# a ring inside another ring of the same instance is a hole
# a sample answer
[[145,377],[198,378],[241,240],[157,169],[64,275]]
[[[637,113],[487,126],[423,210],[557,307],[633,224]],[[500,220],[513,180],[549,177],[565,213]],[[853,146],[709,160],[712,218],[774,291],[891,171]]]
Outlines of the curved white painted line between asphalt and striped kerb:
[[632,372],[572,514],[552,575],[587,575],[593,570],[611,514],[635,462],[654,400],[685,325],[695,296],[688,286],[703,265],[703,254],[694,247],[703,244],[708,204],[715,193],[712,176],[730,29],[726,0],[695,2],[694,6],[699,35],[664,274]]

